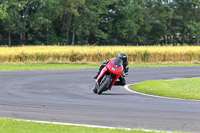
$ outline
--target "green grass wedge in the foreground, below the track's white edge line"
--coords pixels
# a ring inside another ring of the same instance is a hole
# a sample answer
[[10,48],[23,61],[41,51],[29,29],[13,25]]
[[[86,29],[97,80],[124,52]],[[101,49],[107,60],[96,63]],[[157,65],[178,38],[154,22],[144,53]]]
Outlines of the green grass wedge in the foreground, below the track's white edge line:
[[[90,128],[0,118],[0,133],[156,133],[144,130]],[[164,133],[164,132],[162,132]]]

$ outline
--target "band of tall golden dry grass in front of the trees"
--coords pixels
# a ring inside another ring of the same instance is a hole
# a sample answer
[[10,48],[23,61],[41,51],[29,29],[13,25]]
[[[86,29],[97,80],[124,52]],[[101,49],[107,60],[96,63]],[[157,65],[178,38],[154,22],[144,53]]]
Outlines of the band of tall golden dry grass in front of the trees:
[[29,46],[0,47],[0,63],[99,63],[128,55],[131,63],[199,63],[200,47]]

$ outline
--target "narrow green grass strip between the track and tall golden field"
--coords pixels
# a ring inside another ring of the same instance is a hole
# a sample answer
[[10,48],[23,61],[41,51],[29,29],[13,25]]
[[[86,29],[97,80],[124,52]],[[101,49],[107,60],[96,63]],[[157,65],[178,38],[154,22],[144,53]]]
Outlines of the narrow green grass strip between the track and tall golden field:
[[[130,64],[130,67],[172,67],[200,66],[200,64]],[[45,69],[85,69],[99,68],[99,64],[1,64],[0,71],[45,70]]]

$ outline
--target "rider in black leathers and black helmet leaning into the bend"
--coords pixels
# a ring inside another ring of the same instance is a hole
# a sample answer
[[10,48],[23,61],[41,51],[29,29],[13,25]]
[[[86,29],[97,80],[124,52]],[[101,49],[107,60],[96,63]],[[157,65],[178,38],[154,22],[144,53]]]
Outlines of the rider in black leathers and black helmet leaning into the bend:
[[[123,61],[123,73],[119,77],[119,81],[116,81],[114,85],[125,85],[126,84],[125,77],[126,77],[126,75],[128,75],[128,71],[129,71],[128,61],[127,61],[128,56],[125,53],[119,53],[118,58],[122,59],[122,61]],[[97,75],[94,76],[94,79],[97,79],[97,77],[99,76],[101,70],[108,64],[109,61],[110,60],[105,60],[100,65],[100,68],[99,68],[99,70],[97,72]]]

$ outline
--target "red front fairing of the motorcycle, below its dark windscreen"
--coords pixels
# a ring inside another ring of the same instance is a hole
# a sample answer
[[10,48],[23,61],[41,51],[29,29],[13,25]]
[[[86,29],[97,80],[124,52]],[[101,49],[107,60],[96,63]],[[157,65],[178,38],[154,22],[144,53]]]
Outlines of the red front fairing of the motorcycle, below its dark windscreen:
[[116,67],[114,64],[114,59],[111,59],[109,63],[106,65],[106,68],[109,70],[111,74],[120,76],[123,72],[123,66]]

